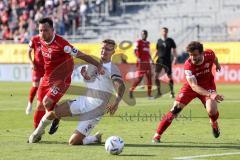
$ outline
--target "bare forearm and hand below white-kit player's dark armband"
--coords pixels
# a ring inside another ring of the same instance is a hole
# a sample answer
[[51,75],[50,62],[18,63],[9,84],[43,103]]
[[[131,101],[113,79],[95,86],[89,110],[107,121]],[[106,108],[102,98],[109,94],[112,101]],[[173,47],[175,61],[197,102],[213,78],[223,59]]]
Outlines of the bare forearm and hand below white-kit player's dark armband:
[[117,111],[118,105],[119,105],[120,101],[122,100],[123,94],[125,92],[125,84],[124,84],[123,80],[113,79],[113,85],[117,92],[117,95],[116,95],[117,97],[112,104],[107,106],[107,110],[108,110],[107,112],[109,112],[110,115],[113,115]]

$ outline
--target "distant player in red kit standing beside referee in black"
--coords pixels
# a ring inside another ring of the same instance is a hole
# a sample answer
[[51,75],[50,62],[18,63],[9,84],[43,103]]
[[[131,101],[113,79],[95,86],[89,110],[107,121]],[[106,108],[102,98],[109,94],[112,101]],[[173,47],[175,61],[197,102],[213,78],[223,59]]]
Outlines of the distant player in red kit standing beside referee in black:
[[148,86],[148,98],[152,99],[151,90],[152,90],[152,71],[151,71],[151,62],[152,58],[150,55],[150,42],[147,41],[148,32],[143,30],[141,33],[142,39],[136,42],[135,55],[137,57],[137,71],[135,81],[132,84],[132,87],[129,91],[129,97],[133,98],[133,91],[142,81],[144,75],[147,77],[147,86]]

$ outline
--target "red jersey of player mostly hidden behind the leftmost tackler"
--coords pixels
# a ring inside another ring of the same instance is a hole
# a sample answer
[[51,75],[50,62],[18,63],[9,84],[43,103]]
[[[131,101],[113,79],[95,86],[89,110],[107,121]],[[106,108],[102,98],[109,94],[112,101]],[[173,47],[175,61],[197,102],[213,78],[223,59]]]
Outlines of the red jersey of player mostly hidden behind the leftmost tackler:
[[44,60],[41,52],[41,42],[39,35],[33,36],[29,42],[29,48],[34,51],[33,63],[37,70],[44,71]]

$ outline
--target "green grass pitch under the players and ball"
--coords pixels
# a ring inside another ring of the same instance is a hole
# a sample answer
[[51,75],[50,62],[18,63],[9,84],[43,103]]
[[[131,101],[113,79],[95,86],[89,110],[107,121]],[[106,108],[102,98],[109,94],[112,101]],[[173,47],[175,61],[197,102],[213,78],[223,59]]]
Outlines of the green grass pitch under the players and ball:
[[[219,105],[221,135],[218,139],[212,135],[209,118],[199,100],[194,100],[173,121],[160,144],[152,144],[151,138],[161,115],[172,105],[169,95],[157,100],[139,98],[136,106],[121,103],[115,116],[106,115],[93,132],[103,132],[103,140],[111,135],[122,137],[125,148],[119,156],[107,154],[104,144],[69,146],[67,142],[76,128],[76,121],[61,121],[55,135],[46,133],[40,143],[26,143],[33,130],[33,115],[25,115],[30,85],[0,83],[1,160],[159,160],[221,153],[219,157],[192,159],[240,159],[240,85],[218,85],[218,92],[225,96],[225,101]],[[179,86],[175,91],[178,89]]]

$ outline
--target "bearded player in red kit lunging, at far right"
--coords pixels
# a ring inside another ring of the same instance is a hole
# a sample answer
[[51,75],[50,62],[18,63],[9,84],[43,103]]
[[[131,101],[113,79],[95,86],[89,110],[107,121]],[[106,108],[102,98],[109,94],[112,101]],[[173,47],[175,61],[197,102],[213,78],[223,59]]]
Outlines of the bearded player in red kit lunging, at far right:
[[172,109],[162,118],[153,142],[160,142],[163,132],[177,117],[179,112],[194,98],[199,98],[208,112],[213,135],[218,138],[220,130],[217,119],[219,116],[217,102],[223,100],[223,96],[216,92],[212,66],[216,65],[216,71],[221,70],[218,59],[210,49],[203,51],[203,45],[193,41],[187,46],[189,59],[184,64],[186,81],[181,88]]

